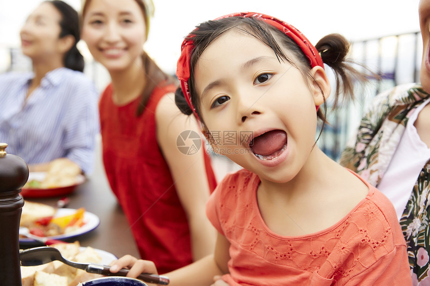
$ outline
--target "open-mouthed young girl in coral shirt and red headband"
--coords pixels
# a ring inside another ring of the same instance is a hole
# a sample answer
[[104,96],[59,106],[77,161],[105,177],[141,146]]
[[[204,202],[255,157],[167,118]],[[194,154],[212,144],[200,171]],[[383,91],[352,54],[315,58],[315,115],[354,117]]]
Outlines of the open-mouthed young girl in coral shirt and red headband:
[[[316,110],[330,94],[323,63],[351,93],[346,52],[339,35],[315,48],[293,26],[258,13],[204,22],[185,38],[178,104],[184,97],[212,146],[244,169],[207,203],[215,252],[166,274],[170,285],[210,285],[219,275],[228,285],[411,284],[392,205],[315,145]],[[215,132],[236,132],[237,144]],[[130,276],[156,273],[130,256],[111,271],[121,267]]]

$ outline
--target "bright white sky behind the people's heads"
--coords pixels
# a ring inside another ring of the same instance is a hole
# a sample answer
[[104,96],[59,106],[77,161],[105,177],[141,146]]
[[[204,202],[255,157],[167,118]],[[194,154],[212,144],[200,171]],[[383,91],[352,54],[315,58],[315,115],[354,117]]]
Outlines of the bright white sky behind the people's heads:
[[[65,1],[80,9],[81,0]],[[332,32],[354,41],[419,30],[419,0],[153,1],[155,15],[145,49],[167,72],[175,69],[183,36],[196,24],[231,12],[255,11],[276,16],[301,30],[313,44]],[[0,48],[19,47],[19,29],[39,3],[0,0]]]

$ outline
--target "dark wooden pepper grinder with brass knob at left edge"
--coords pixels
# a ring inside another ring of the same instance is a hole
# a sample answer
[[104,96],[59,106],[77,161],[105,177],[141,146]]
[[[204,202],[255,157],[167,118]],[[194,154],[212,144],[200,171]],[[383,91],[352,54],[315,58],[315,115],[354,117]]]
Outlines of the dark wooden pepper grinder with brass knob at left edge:
[[0,285],[21,286],[18,232],[24,200],[19,193],[28,180],[28,166],[6,154],[6,147],[0,143]]

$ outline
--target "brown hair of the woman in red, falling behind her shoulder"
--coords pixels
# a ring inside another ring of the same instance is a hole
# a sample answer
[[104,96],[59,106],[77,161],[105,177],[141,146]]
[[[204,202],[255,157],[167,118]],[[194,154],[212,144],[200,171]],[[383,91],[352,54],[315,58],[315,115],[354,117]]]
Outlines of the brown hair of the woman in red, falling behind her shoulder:
[[142,63],[145,86],[140,96],[140,103],[136,110],[136,116],[140,116],[143,113],[154,87],[160,86],[161,82],[163,82],[162,86],[178,83],[174,77],[163,72],[145,52],[142,54]]

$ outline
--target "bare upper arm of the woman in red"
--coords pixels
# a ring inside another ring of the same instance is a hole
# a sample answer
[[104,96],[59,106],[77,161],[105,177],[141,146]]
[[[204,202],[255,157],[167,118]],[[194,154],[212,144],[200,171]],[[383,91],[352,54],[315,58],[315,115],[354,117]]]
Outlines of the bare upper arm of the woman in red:
[[[169,166],[176,192],[188,218],[193,261],[213,252],[215,230],[205,215],[209,197],[203,152],[204,145],[192,154],[183,154],[176,145],[182,131],[200,134],[195,120],[178,110],[173,94],[164,96],[155,111],[157,141]],[[187,141],[186,143],[190,143]]]

